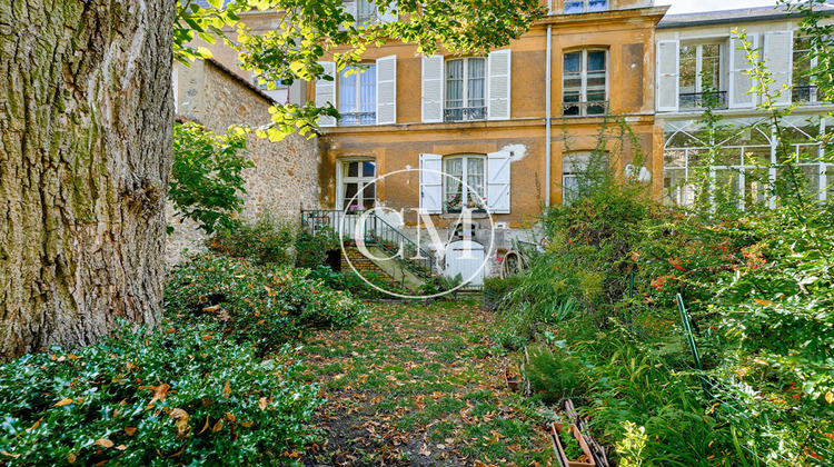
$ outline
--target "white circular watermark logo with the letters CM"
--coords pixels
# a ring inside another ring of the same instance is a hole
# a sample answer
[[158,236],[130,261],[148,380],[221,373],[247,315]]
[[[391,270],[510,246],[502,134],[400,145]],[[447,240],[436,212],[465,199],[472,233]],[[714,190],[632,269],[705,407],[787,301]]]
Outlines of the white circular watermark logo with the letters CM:
[[[366,187],[374,185],[376,192],[386,178],[390,181],[405,178],[410,183],[415,175],[418,180],[430,180],[430,183],[420,186],[423,202],[418,206],[396,210],[359,203],[359,195]],[[436,298],[483,280],[495,250],[495,221],[483,195],[485,177],[480,179],[478,186],[471,186],[449,173],[407,168],[358,187],[336,222],[341,252],[350,269],[369,286],[398,298]],[[444,212],[445,220],[450,221],[447,235],[440,235],[426,206]],[[414,227],[404,227],[407,216],[416,220]],[[360,256],[350,255],[348,247],[356,247]],[[389,290],[375,284],[366,277],[371,269],[367,267],[369,264],[391,276],[401,287]],[[421,287],[434,277],[454,278],[457,275],[461,281],[448,290],[425,292]],[[403,288],[413,292],[406,294]]]

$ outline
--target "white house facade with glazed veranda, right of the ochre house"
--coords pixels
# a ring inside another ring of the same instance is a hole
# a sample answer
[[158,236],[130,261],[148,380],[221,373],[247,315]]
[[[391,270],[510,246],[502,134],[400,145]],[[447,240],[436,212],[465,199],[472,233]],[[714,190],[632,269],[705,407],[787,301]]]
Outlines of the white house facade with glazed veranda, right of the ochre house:
[[[816,63],[798,32],[801,19],[784,8],[766,7],[667,16],[657,26],[656,119],[663,129],[665,202],[695,202],[698,180],[706,179],[714,200],[739,208],[773,206],[767,186],[780,177],[776,166],[784,158],[800,165],[810,196],[834,199],[834,167],[820,161],[822,149],[815,143],[834,125],[824,117],[834,108],[822,101],[808,77]],[[749,92],[757,83],[745,74],[752,66],[739,33],[759,49],[758,59],[774,81],[770,90],[782,90],[777,106],[796,106],[782,129],[757,109],[763,98]],[[719,117],[718,131],[706,130],[707,107]],[[780,138],[790,146],[788,155],[780,152]],[[714,146],[721,148],[709,158]]]

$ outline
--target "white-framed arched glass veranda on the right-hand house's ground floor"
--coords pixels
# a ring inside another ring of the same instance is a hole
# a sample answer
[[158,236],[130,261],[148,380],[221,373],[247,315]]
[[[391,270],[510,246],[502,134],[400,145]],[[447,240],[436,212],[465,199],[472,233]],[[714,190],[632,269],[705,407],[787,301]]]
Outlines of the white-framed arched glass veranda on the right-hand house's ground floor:
[[[755,121],[755,120],[753,120]],[[804,176],[806,195],[818,201],[832,199],[831,173],[818,143],[827,118],[786,117],[782,125],[788,153],[777,150],[775,131],[766,122],[752,126],[751,119],[726,119],[727,133],[718,149],[704,140],[703,123],[666,122],[664,137],[664,202],[713,208],[776,206],[774,183],[785,185],[783,165],[791,161]],[[732,131],[731,131],[732,130]]]

